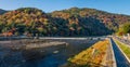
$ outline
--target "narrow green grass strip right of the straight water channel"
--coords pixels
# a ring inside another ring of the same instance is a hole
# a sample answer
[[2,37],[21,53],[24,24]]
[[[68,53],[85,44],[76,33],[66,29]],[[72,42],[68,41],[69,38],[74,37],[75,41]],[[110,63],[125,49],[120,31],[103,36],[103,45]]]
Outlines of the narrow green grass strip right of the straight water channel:
[[119,45],[122,52],[129,57],[130,59],[130,48],[127,44],[122,44],[121,42],[115,40],[115,42]]

